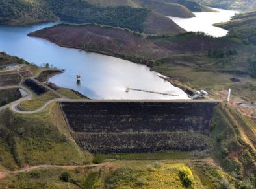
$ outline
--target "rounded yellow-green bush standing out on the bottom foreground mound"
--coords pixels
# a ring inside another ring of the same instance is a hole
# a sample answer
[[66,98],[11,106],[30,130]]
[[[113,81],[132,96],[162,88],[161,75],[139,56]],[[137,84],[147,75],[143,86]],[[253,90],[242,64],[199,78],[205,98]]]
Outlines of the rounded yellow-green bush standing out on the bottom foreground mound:
[[194,186],[194,177],[190,168],[183,166],[179,169],[179,178],[185,187]]

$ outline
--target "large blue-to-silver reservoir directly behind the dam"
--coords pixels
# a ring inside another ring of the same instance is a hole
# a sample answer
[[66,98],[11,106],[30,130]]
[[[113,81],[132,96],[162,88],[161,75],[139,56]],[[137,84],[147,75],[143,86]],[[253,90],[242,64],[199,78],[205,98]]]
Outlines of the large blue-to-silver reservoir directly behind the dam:
[[[36,65],[53,64],[66,69],[49,81],[60,87],[75,89],[95,99],[188,99],[186,93],[159,78],[145,65],[103,56],[77,49],[58,47],[40,38],[27,36],[29,32],[57,23],[40,23],[26,26],[0,26],[0,51],[19,56]],[[77,85],[76,75],[81,74]],[[170,93],[179,97],[138,91],[125,92],[126,87]]]

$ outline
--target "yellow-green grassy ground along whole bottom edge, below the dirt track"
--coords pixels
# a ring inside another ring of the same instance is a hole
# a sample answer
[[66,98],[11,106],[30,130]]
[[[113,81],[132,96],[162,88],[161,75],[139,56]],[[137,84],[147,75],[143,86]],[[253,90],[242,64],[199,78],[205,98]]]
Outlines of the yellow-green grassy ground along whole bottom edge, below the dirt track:
[[114,171],[38,168],[9,175],[0,186],[16,188],[220,188],[235,179],[206,162],[114,161]]

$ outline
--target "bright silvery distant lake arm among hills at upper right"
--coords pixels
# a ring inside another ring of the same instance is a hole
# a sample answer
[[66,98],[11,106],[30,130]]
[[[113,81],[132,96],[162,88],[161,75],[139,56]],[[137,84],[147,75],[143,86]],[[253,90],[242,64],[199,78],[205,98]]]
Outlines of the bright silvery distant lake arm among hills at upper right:
[[196,17],[192,18],[179,18],[170,17],[177,25],[184,28],[188,32],[205,32],[215,37],[222,37],[227,35],[228,31],[219,27],[214,27],[214,23],[221,23],[229,21],[237,11],[233,10],[222,10],[218,8],[213,8],[218,12],[194,12]]

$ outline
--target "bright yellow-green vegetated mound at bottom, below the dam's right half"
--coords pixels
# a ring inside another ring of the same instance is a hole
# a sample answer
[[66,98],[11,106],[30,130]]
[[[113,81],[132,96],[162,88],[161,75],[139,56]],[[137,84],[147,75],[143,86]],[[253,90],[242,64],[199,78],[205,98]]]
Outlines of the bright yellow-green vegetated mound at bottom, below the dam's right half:
[[[238,183],[221,169],[203,162],[196,162],[196,166],[189,161],[125,161],[123,164],[120,161],[115,164],[118,168],[106,177],[105,188],[220,188],[222,181],[227,181],[230,187]],[[191,186],[185,187],[183,181]]]

